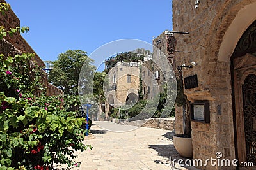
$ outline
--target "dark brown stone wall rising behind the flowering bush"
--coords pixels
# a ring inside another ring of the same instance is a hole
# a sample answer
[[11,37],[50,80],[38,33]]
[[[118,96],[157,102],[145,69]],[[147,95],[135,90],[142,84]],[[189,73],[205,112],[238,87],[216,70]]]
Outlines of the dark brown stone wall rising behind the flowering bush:
[[[6,3],[4,0],[0,0],[0,3]],[[10,28],[20,27],[20,20],[15,15],[15,13],[9,9],[4,15],[0,15],[0,26],[3,26],[6,30]],[[34,53],[35,57],[31,59],[31,62],[38,64],[40,67],[45,67],[44,62],[36,54],[36,52],[31,48],[27,41],[21,36],[21,34],[16,33],[13,36],[6,36],[0,40],[0,53],[5,57],[9,55],[17,55],[21,53]],[[54,85],[47,82],[47,73],[44,72],[42,77],[42,83],[45,88],[47,88],[47,95],[54,96],[58,94],[63,94],[62,90],[58,89]]]

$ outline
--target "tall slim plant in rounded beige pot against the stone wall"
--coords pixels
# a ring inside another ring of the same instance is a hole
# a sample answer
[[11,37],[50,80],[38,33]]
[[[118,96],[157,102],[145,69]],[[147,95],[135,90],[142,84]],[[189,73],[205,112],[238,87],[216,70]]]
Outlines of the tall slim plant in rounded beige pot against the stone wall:
[[183,157],[193,157],[190,104],[187,96],[184,94],[181,73],[177,77],[177,98],[175,104],[183,108],[184,132],[183,134],[175,134],[173,136],[173,144],[177,152]]

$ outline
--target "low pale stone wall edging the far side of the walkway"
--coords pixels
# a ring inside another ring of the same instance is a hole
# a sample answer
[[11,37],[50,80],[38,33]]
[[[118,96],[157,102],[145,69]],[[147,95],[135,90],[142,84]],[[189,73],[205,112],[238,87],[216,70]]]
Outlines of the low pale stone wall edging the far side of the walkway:
[[145,120],[136,120],[124,122],[125,125],[134,125],[141,127],[151,127],[156,129],[175,130],[175,118],[149,118]]

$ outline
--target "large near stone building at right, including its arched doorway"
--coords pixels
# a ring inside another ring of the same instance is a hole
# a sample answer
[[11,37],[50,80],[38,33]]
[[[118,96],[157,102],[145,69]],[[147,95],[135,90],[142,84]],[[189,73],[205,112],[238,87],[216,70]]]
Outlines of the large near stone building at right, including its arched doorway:
[[194,159],[216,159],[221,152],[221,159],[256,163],[255,9],[255,0],[196,1],[196,6],[173,0],[173,31],[189,32],[175,34],[177,50],[189,51],[175,53],[176,64],[196,63],[182,67],[184,93],[191,106],[209,102],[209,122],[191,121]]

